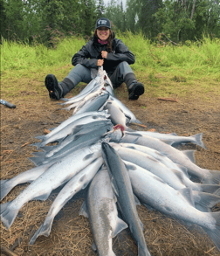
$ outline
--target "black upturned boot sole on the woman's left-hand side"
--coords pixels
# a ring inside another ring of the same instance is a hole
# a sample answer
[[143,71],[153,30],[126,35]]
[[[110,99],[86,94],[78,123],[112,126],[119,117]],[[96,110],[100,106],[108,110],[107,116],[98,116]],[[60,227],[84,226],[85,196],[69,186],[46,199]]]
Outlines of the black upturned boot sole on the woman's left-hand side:
[[61,89],[58,86],[58,80],[53,74],[48,74],[45,77],[45,86],[49,92],[49,96],[52,100],[59,100],[61,97]]

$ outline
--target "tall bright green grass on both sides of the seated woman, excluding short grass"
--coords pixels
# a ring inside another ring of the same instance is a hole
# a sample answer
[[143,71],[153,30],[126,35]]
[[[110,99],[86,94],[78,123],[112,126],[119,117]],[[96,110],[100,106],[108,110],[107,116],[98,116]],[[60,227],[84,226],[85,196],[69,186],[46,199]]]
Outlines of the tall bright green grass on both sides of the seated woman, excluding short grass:
[[[203,38],[197,43],[187,45],[156,45],[145,39],[141,33],[127,31],[116,34],[134,53],[134,71],[154,70],[157,73],[181,73],[187,77],[213,75],[219,78],[220,40]],[[65,66],[71,64],[74,53],[86,45],[83,38],[65,38],[56,50],[47,49],[44,45],[30,46],[3,40],[1,53],[2,75],[28,73],[32,70],[45,69],[46,66]]]

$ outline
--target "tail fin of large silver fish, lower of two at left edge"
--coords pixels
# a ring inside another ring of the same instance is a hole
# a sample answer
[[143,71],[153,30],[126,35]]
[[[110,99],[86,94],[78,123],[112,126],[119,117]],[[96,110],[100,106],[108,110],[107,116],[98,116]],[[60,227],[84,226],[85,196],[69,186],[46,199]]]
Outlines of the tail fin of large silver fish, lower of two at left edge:
[[1,204],[1,219],[3,222],[3,225],[6,227],[6,230],[10,228],[10,225],[13,224],[15,218],[17,217],[17,213],[20,210],[18,209],[10,209],[10,204],[12,201]]

